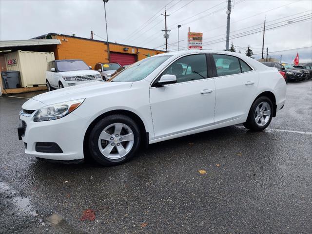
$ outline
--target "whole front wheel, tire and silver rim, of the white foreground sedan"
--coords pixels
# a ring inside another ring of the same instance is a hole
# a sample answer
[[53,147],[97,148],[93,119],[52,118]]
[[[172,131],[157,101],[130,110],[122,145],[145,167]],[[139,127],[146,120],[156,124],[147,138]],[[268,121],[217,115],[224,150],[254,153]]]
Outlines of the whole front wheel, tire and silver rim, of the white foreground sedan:
[[110,115],[92,128],[88,147],[91,157],[101,165],[113,166],[132,158],[140,144],[140,130],[125,115]]

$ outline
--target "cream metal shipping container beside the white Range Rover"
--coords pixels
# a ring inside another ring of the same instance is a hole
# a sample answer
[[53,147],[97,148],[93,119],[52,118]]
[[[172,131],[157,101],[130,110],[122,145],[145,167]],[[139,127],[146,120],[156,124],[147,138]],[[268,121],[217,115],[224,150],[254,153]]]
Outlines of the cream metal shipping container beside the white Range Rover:
[[20,71],[22,87],[44,86],[45,71],[54,53],[21,51],[5,54],[7,70]]

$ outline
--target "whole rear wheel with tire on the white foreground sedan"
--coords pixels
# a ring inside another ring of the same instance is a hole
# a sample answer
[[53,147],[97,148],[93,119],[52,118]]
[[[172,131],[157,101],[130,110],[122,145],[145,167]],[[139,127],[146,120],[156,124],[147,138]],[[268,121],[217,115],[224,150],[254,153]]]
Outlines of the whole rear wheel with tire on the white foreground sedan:
[[254,101],[243,125],[252,131],[262,131],[270,125],[272,117],[273,103],[270,98],[262,96]]

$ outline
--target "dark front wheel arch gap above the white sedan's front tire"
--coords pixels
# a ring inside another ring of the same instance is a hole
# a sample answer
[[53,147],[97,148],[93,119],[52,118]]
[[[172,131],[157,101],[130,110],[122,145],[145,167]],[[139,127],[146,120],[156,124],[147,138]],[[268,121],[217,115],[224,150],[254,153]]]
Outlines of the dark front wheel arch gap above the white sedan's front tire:
[[143,121],[141,120],[141,118],[137,114],[135,114],[134,112],[129,111],[129,110],[111,110],[111,111],[108,111],[106,113],[99,115],[95,120],[92,121],[92,123],[87,128],[87,130],[84,134],[84,139],[83,139],[83,155],[84,155],[85,159],[89,159],[88,139],[89,139],[89,135],[90,135],[92,128],[98,123],[98,121],[100,119],[103,119],[109,115],[114,115],[114,114],[126,115],[126,116],[130,117],[131,119],[133,119],[137,123],[139,130],[140,130],[140,133],[141,133],[141,146],[147,146],[148,145],[149,133],[146,132],[145,125],[144,125]]

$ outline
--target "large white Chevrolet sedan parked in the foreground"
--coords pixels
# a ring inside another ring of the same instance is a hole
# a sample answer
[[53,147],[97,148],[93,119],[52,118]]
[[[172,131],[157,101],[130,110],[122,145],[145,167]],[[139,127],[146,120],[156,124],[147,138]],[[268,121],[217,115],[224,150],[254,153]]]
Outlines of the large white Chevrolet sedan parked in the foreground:
[[[219,60],[229,65],[217,69]],[[241,123],[262,131],[285,101],[275,68],[228,51],[176,51],[138,61],[111,82],[33,97],[22,105],[18,132],[26,154],[117,165],[141,144]]]

